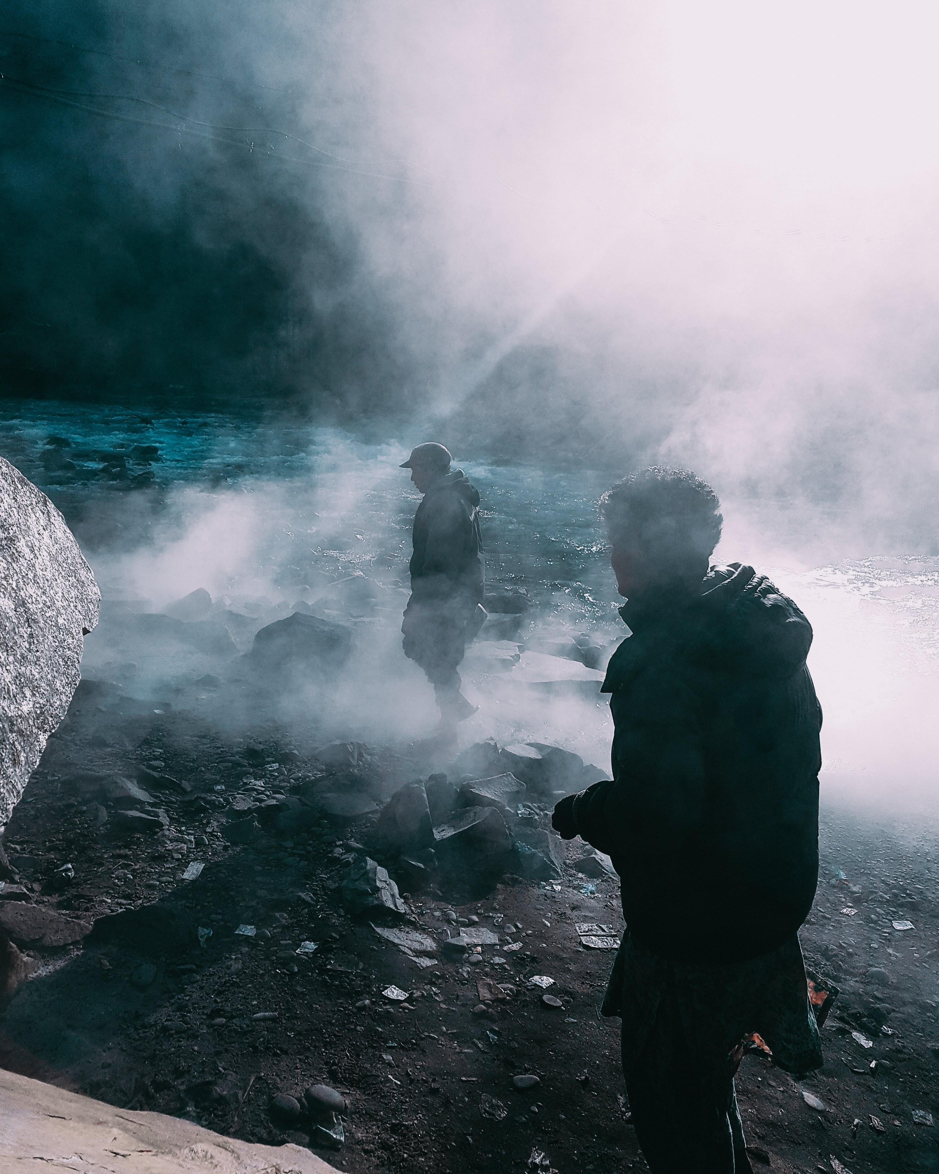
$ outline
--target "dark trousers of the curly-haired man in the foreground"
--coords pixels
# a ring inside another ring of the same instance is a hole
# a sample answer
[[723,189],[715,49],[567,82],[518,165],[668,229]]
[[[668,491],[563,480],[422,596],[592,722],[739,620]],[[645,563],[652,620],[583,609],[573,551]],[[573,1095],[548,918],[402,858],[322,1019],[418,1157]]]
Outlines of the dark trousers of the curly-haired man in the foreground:
[[730,1057],[691,1058],[677,1000],[668,992],[635,1059],[623,1048],[633,1126],[653,1174],[752,1174]]

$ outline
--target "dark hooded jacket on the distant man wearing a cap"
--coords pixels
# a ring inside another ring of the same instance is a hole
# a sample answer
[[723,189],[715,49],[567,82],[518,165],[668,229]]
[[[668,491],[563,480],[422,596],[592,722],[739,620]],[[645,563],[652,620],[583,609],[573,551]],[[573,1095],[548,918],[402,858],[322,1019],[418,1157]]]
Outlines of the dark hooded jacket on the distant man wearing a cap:
[[460,596],[482,602],[482,540],[479,492],[461,468],[443,474],[424,494],[414,514],[411,593],[416,602]]

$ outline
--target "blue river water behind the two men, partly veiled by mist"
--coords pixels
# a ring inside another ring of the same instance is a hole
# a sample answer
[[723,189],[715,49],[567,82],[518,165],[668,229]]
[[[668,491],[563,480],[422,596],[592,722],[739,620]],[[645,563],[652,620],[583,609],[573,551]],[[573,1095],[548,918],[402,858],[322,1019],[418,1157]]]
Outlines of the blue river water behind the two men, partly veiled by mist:
[[[203,587],[216,607],[273,618],[338,576],[362,571],[377,580],[385,594],[367,629],[374,670],[342,697],[350,735],[413,736],[433,718],[428,687],[397,634],[418,502],[398,465],[419,439],[379,444],[296,419],[33,402],[0,414],[0,454],[66,514],[108,601],[160,610]],[[609,650],[622,635],[621,601],[595,512],[608,478],[455,456],[482,495],[488,580],[532,596],[520,639],[531,649],[586,633]],[[827,794],[898,817],[934,811],[939,559],[832,552],[809,566],[791,537],[774,542],[751,504],[725,504],[724,513],[717,558],[755,562],[815,627],[810,668],[825,711]],[[756,537],[750,548],[730,545],[742,534]],[[113,652],[102,621],[87,641],[86,674],[112,672]],[[467,657],[466,688],[480,713],[465,740],[558,742],[602,765],[603,699],[576,684],[516,688],[539,676],[547,662],[538,657],[529,650],[502,675]],[[561,677],[579,674],[590,675],[561,666]],[[144,677],[140,688],[149,687]]]

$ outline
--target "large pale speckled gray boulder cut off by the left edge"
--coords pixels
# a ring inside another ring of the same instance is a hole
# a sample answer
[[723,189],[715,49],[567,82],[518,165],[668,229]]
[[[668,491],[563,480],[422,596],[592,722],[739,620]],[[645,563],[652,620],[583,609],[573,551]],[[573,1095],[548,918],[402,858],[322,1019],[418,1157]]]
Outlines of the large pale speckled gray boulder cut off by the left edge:
[[65,518],[0,458],[0,834],[66,715],[100,602]]

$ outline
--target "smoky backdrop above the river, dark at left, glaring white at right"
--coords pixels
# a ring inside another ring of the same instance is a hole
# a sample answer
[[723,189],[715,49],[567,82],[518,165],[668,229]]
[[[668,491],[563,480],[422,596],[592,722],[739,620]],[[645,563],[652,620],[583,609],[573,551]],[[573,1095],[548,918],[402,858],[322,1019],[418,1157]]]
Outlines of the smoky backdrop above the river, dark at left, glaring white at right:
[[881,16],[13,0],[8,386],[666,457],[934,552],[937,18]]

